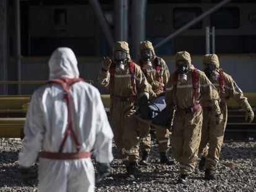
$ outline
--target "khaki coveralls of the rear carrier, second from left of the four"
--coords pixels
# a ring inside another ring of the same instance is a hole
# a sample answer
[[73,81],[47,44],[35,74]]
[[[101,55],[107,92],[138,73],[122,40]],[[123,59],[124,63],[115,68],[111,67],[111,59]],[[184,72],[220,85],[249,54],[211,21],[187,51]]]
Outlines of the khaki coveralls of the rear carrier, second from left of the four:
[[[152,61],[152,69],[143,69],[143,61],[139,61],[139,65],[147,78],[148,83],[150,84],[150,101],[156,98],[156,96],[164,93],[165,86],[169,79],[169,69],[166,65],[166,62],[160,58],[156,57],[155,50],[150,41],[142,41],[139,44],[139,51],[143,49],[151,49],[153,57],[155,58]],[[159,61],[158,61],[159,59]],[[156,73],[156,62],[159,62],[161,69],[160,74]],[[158,76],[160,75],[160,77]],[[160,80],[161,78],[161,80]],[[160,82],[161,81],[161,82]],[[139,122],[140,126],[140,148],[142,151],[150,152],[150,125],[147,123]],[[156,128],[156,140],[158,141],[158,150],[159,152],[168,152],[169,149],[169,130],[165,128]]]

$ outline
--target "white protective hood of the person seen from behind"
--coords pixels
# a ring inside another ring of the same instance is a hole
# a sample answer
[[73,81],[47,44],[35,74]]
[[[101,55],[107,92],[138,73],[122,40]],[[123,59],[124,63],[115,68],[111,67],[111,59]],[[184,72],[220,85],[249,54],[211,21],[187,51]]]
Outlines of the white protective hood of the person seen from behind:
[[79,78],[77,58],[70,48],[56,49],[49,59],[49,80]]

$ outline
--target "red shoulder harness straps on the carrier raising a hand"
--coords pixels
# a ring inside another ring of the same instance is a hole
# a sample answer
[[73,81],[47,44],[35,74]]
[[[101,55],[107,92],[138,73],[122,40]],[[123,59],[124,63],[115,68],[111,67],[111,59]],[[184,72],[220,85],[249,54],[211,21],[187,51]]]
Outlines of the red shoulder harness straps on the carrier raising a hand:
[[[110,67],[111,95],[114,95],[114,72],[115,71],[116,71],[116,64],[112,62]],[[132,93],[133,93],[133,96],[136,96],[137,90],[136,90],[136,83],[135,83],[135,67],[134,67],[133,61],[130,61],[129,72],[130,72],[130,84],[132,85]]]

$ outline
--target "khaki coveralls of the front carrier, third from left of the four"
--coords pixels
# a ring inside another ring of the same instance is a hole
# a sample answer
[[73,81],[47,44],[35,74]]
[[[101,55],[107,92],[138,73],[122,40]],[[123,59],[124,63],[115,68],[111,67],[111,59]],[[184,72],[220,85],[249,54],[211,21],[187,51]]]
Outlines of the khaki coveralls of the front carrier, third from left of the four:
[[169,109],[177,107],[174,115],[173,134],[171,136],[171,146],[174,158],[180,163],[181,174],[189,175],[194,171],[197,161],[198,147],[201,138],[201,128],[203,122],[202,108],[186,113],[184,109],[191,109],[200,103],[203,95],[211,103],[213,112],[220,114],[218,106],[218,93],[216,88],[208,80],[205,73],[198,70],[197,80],[197,98],[194,98],[194,87],[192,83],[192,70],[190,54],[186,51],[177,52],[175,55],[175,64],[177,61],[186,61],[189,65],[187,72],[187,81],[177,82],[176,88],[173,86],[174,73],[171,73],[166,86],[166,104]]

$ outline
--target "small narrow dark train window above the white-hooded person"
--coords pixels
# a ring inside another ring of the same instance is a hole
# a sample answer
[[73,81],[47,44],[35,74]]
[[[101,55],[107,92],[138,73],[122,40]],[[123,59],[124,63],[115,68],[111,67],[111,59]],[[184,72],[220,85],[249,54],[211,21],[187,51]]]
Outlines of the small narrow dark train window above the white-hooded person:
[[67,11],[66,9],[56,9],[54,11],[55,30],[66,31],[67,27]]

